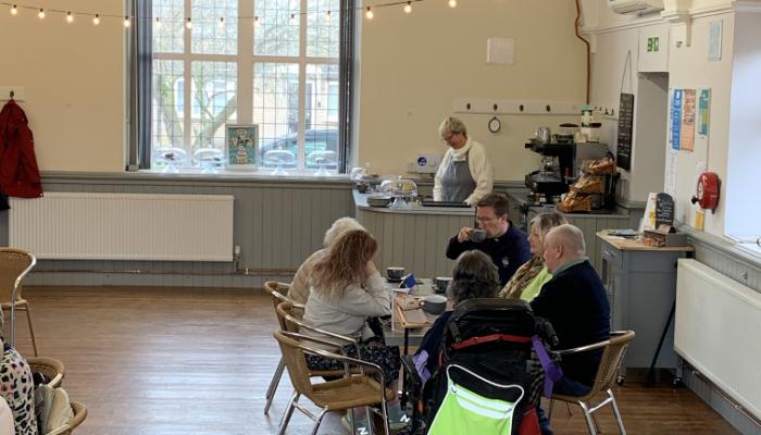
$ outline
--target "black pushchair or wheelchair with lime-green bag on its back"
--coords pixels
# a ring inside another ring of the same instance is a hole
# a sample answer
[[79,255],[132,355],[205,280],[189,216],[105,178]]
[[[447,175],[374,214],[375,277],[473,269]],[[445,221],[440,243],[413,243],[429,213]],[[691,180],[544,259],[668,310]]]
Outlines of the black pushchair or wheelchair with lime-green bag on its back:
[[514,299],[470,299],[454,308],[442,337],[439,369],[423,385],[411,357],[403,400],[411,434],[538,434],[535,405],[545,381],[537,346],[557,337],[549,322]]

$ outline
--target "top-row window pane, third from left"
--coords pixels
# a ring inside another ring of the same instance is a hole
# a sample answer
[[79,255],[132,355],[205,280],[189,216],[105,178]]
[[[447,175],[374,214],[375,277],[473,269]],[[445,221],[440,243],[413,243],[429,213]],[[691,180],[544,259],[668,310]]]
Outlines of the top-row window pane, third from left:
[[[253,53],[257,55],[299,55],[301,10],[297,0],[257,1]],[[291,18],[292,16],[292,18]]]

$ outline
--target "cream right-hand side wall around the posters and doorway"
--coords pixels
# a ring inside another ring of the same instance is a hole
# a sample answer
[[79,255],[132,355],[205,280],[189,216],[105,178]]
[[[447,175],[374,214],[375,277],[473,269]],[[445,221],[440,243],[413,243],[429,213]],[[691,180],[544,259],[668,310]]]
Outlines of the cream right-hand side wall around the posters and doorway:
[[[666,5],[679,7],[684,11],[693,10],[690,2],[666,2]],[[733,71],[733,37],[734,12],[726,1],[703,0],[697,3],[700,12],[691,20],[691,40],[689,45],[676,46],[677,40],[684,40],[685,24],[671,23],[660,14],[637,17],[636,15],[617,15],[610,12],[606,2],[589,0],[584,2],[585,32],[594,34],[596,52],[592,58],[592,101],[602,104],[616,102],[621,87],[623,59],[627,50],[633,51],[633,65],[637,72],[637,35],[641,29],[653,26],[669,26],[668,40],[668,73],[670,88],[711,88],[710,135],[707,144],[696,140],[694,152],[679,152],[676,165],[676,197],[677,219],[685,223],[693,222],[693,206],[689,202],[695,195],[698,162],[708,162],[708,170],[719,174],[726,181],[729,98],[732,90]],[[589,15],[586,12],[590,11]],[[723,12],[722,12],[723,11]],[[669,15],[666,9],[664,15]],[[723,50],[720,61],[708,61],[709,24],[723,21]],[[662,42],[663,44],[663,42]],[[617,77],[617,78],[616,78]],[[636,85],[636,77],[633,78]],[[636,101],[635,101],[636,104]],[[635,119],[636,123],[636,119]],[[636,128],[636,126],[635,126]],[[635,153],[637,152],[635,141]],[[666,137],[662,140],[662,156],[666,150]],[[660,171],[665,172],[665,167]],[[641,178],[641,177],[640,177]],[[660,186],[663,189],[664,186]],[[722,185],[722,197],[726,195],[726,183]],[[639,192],[644,194],[644,192]],[[644,198],[629,198],[644,200]],[[724,213],[726,201],[720,201],[715,213],[706,214],[706,231],[724,235]]]

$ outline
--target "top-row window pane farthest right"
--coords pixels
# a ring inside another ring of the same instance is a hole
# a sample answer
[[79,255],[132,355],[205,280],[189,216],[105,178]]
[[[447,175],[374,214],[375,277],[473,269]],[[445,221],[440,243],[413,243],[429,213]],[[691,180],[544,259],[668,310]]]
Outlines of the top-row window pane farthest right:
[[[307,3],[307,55],[338,58],[338,0],[309,0]],[[329,15],[328,15],[329,12]]]

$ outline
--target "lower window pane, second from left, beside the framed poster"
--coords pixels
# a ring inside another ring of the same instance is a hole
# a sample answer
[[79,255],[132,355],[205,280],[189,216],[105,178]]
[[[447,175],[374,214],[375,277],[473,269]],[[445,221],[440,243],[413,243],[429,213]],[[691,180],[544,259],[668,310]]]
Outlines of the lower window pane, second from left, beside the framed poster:
[[237,71],[235,62],[192,62],[191,153],[224,150],[225,123],[237,115]]

